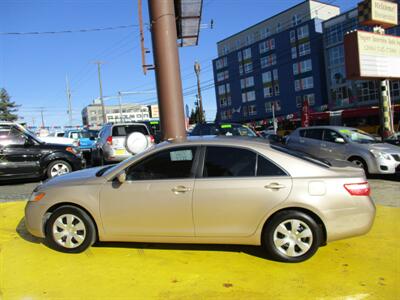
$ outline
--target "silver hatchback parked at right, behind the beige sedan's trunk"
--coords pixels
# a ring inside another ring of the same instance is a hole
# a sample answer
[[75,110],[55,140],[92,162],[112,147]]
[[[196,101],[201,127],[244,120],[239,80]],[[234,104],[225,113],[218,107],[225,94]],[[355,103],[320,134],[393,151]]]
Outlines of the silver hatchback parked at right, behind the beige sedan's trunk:
[[381,143],[351,127],[313,126],[298,128],[286,139],[289,148],[323,159],[353,162],[368,174],[400,172],[400,148]]

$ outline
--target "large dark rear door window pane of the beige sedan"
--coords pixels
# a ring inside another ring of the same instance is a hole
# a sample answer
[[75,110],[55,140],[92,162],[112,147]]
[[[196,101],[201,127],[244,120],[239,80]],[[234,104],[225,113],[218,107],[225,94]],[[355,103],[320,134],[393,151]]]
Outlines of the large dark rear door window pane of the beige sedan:
[[203,177],[250,177],[255,175],[257,155],[246,149],[207,147]]

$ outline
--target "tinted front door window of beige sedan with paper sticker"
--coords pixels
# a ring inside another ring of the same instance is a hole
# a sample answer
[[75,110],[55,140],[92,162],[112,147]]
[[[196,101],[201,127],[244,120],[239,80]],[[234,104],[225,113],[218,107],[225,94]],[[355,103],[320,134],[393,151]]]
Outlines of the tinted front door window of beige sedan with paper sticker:
[[126,178],[130,181],[191,178],[196,149],[180,147],[157,152],[129,167]]

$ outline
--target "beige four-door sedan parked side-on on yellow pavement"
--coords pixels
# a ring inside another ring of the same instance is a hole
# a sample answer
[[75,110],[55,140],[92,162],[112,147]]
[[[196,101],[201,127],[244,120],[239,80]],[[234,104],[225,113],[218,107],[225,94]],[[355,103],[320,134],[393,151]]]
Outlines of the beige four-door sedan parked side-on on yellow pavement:
[[47,181],[32,193],[25,224],[70,253],[95,241],[247,244],[299,262],[327,242],[368,232],[369,194],[352,164],[329,165],[263,139],[193,137]]

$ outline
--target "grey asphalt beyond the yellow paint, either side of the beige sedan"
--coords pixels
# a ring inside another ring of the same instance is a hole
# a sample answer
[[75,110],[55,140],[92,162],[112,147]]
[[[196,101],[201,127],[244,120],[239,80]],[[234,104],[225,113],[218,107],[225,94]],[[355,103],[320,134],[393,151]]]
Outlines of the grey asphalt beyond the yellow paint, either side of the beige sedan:
[[[368,179],[372,188],[372,198],[375,203],[400,207],[400,178],[374,176]],[[13,183],[0,185],[0,202],[25,201],[32,190],[39,184],[38,181],[30,183]]]

